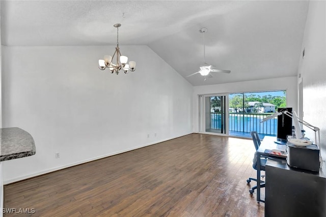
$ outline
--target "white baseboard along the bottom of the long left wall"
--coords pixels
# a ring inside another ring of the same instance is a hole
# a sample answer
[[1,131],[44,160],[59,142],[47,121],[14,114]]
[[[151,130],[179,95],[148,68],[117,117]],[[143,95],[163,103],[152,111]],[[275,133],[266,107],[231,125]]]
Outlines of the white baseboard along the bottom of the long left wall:
[[[192,134],[192,133],[189,133],[189,134]],[[82,161],[77,161],[77,162],[74,162],[74,163],[71,163],[71,164],[62,165],[60,167],[50,168],[50,169],[47,169],[47,170],[39,171],[37,173],[32,173],[32,174],[29,174],[29,175],[24,175],[24,176],[20,176],[20,177],[8,179],[8,180],[3,180],[3,184],[10,184],[10,183],[21,181],[21,180],[24,180],[24,179],[33,178],[35,176],[44,175],[46,173],[54,172],[54,171],[57,171],[57,170],[65,169],[65,168],[76,166],[76,165],[79,165],[79,164],[84,164],[84,163],[95,161],[95,160],[98,160],[98,159],[107,158],[107,157],[114,156],[114,155],[119,154],[119,153],[124,153],[124,152],[135,150],[135,149],[138,149],[138,148],[143,148],[143,147],[146,147],[146,146],[154,145],[154,144],[157,144],[157,143],[160,143],[160,142],[165,142],[165,141],[175,139],[175,138],[178,138],[178,137],[182,137],[182,136],[186,136],[186,135],[189,135],[189,134],[184,134],[184,135],[175,136],[175,137],[171,137],[171,138],[167,138],[167,139],[162,139],[162,140],[147,143],[147,144],[144,144],[144,145],[141,145],[141,146],[137,146],[137,147],[133,147],[133,148],[117,151],[117,152],[107,153],[107,154],[103,154],[102,156],[97,156],[97,157],[94,157],[94,158],[85,159],[85,160],[82,160]]]

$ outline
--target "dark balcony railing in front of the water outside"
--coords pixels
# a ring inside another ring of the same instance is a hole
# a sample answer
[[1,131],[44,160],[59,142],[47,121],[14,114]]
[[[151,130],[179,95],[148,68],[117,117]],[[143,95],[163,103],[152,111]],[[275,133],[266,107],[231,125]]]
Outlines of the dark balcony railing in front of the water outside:
[[[229,131],[250,133],[257,131],[259,134],[276,135],[277,118],[260,121],[270,114],[264,113],[229,113]],[[221,112],[211,112],[211,129],[221,130]]]

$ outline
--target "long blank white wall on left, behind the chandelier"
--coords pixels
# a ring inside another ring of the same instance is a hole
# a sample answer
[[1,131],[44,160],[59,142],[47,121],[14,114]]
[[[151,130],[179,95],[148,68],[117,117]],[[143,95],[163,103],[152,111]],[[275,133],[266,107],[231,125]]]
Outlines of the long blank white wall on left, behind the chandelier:
[[3,163],[5,183],[192,133],[192,85],[147,46],[121,47],[135,72],[100,71],[114,49],[3,46],[3,127],[36,144]]

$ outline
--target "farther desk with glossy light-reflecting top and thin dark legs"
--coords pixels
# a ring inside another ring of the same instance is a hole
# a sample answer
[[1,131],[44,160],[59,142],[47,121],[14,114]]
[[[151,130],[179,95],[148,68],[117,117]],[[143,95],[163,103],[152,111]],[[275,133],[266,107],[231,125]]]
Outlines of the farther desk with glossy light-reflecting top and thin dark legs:
[[[265,149],[277,149],[277,146],[279,144],[275,143],[277,141],[276,137],[273,136],[265,136],[263,141],[261,142],[258,150],[257,150],[257,159],[260,159],[261,157],[270,157],[271,155],[268,153],[265,153]],[[275,156],[273,155],[273,158]],[[257,179],[260,180],[260,160],[257,161]],[[265,202],[260,199],[260,181],[257,181],[257,202]]]

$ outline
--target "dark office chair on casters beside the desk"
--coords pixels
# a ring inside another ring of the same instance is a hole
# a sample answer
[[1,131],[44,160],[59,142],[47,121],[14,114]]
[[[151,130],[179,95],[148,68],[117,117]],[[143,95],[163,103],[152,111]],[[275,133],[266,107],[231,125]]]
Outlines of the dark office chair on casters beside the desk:
[[[258,147],[260,145],[260,139],[259,139],[258,133],[256,131],[252,131],[250,134],[251,134],[251,136],[253,138],[253,142],[254,142],[254,145],[255,145],[255,148],[256,148],[256,151],[257,151]],[[255,170],[257,170],[257,161],[258,161],[257,153],[255,152],[254,159],[253,159],[253,168]],[[260,170],[265,171],[266,161],[267,161],[266,158],[261,158],[260,159]],[[264,176],[265,175],[261,175],[262,178],[264,178]],[[258,177],[257,178],[249,178],[249,179],[247,179],[247,183],[249,184],[251,182],[251,180],[254,180],[254,181],[257,182]],[[260,180],[260,179],[259,179],[259,181],[260,181],[260,188],[264,188],[265,187],[265,182]],[[249,193],[253,194],[255,189],[257,189],[257,185],[255,185],[253,188],[251,188],[249,190]]]

